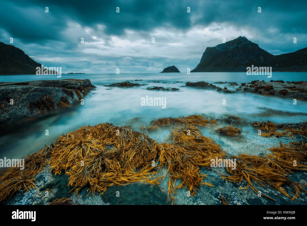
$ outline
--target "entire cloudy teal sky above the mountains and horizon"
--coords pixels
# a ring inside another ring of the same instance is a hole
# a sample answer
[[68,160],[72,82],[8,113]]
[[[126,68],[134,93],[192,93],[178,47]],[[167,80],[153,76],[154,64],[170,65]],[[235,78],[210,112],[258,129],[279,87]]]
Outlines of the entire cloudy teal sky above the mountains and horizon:
[[274,55],[307,47],[306,0],[0,1],[0,41],[62,73],[186,72],[223,37]]

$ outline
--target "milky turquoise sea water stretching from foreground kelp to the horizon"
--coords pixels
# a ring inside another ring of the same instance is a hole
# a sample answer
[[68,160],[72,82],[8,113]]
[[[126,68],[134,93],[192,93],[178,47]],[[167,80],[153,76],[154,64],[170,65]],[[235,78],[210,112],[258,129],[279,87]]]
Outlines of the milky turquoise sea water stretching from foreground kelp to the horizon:
[[[222,118],[227,116],[241,117],[245,121],[271,120],[277,123],[297,123],[307,121],[307,102],[297,100],[293,105],[291,98],[278,98],[252,93],[219,93],[215,90],[203,90],[185,87],[185,83],[206,81],[215,82],[251,82],[252,80],[307,80],[306,72],[273,72],[267,76],[247,76],[245,72],[205,72],[205,73],[124,73],[124,74],[72,74],[62,75],[60,79],[89,79],[96,86],[95,90],[84,97],[84,105],[74,104],[70,108],[58,109],[33,120],[1,127],[0,158],[22,158],[50,145],[62,134],[66,134],[84,125],[113,123],[118,126],[131,126],[139,130],[144,125],[150,125],[152,120],[162,117],[179,117],[188,115],[208,115]],[[26,81],[58,79],[56,76],[14,75],[0,76],[0,81]],[[104,85],[131,81],[146,84],[132,88],[105,87]],[[134,81],[142,80],[142,81]],[[153,81],[159,81],[153,82]],[[235,90],[229,84],[215,84]],[[151,91],[147,87],[162,86],[179,88],[176,92]],[[141,98],[166,98],[166,107],[142,106]],[[226,104],[223,105],[223,99]],[[49,130],[49,135],[45,135]],[[251,127],[243,128],[251,131]],[[254,129],[255,130],[255,129]],[[255,130],[254,132],[257,132]],[[251,132],[250,132],[251,133]],[[159,130],[148,135],[158,141],[164,141],[169,136],[168,130]],[[212,131],[203,131],[218,143],[232,147],[235,152],[243,144],[220,138]],[[256,135],[256,134],[255,134]],[[278,140],[276,140],[276,143]]]

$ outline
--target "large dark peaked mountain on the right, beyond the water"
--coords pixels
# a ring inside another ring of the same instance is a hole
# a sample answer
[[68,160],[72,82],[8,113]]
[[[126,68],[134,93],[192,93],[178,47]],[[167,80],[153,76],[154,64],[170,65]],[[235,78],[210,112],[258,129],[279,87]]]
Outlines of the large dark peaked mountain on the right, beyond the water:
[[307,48],[274,56],[246,37],[207,47],[191,72],[246,72],[247,67],[272,67],[272,71],[306,72]]

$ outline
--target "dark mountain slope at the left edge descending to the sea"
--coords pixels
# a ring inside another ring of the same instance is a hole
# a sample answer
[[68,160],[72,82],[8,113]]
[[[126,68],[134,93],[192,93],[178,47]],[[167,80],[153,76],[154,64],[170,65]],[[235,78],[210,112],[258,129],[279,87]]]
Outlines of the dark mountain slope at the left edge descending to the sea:
[[0,75],[35,75],[41,64],[14,45],[0,42]]

